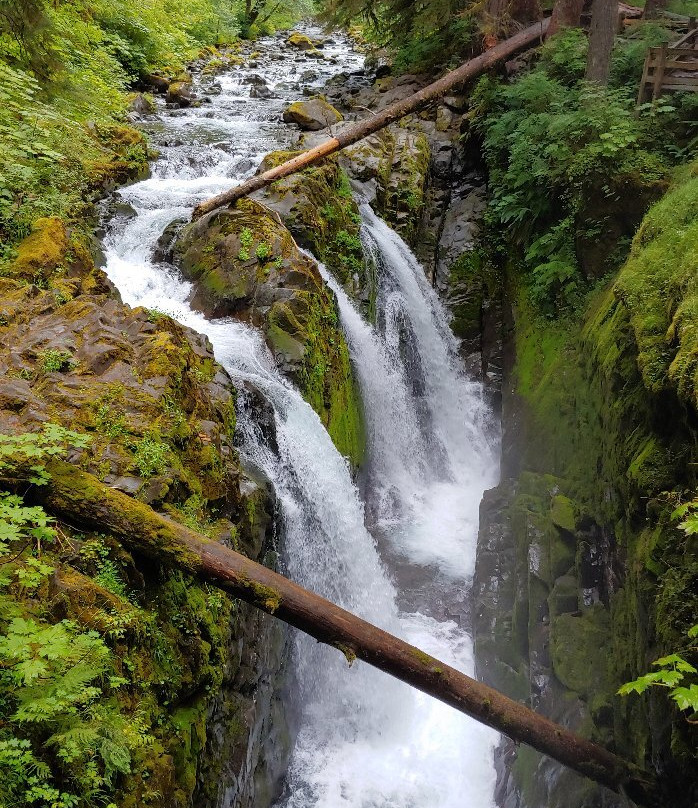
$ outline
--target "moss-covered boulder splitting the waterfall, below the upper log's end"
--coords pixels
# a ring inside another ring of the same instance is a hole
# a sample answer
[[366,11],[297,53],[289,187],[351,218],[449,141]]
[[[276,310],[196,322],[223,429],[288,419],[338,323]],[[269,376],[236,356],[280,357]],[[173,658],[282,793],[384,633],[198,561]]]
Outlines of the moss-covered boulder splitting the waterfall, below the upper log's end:
[[181,232],[175,253],[211,316],[260,326],[281,370],[301,389],[342,454],[363,451],[361,404],[334,296],[278,217],[244,199]]

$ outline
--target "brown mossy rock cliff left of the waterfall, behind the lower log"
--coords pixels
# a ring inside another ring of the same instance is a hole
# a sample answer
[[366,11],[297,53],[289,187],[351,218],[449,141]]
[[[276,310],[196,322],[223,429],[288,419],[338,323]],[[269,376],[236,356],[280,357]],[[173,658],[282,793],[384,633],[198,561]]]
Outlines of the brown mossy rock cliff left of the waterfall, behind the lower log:
[[[207,339],[164,314],[120,303],[59,219],[36,223],[10,275],[0,279],[0,431],[51,422],[86,434],[89,446],[73,451],[71,462],[175,521],[271,560],[273,497],[240,468],[235,390]],[[73,541],[71,528],[64,530]],[[74,540],[79,547],[92,538],[83,531]],[[124,640],[138,670],[124,717],[135,711],[152,722],[144,726],[157,742],[132,763],[119,804],[218,808],[225,793],[234,793],[236,805],[271,802],[274,795],[262,792],[273,789],[287,753],[275,695],[283,631],[255,610],[234,610],[222,593],[212,606],[193,579],[132,556],[108,535],[96,540],[118,561],[129,597],[161,637],[157,659],[147,636]],[[77,552],[55,563],[53,605],[42,619],[103,629],[90,622],[95,604],[124,608]]]

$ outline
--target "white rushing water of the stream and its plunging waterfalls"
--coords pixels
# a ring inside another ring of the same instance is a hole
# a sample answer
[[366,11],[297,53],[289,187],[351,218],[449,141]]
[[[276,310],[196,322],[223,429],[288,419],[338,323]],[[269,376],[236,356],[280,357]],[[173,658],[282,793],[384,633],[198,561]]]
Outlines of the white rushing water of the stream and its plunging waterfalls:
[[[358,66],[346,43],[328,51],[341,58],[337,70]],[[151,260],[170,221],[249,173],[267,151],[289,145],[291,133],[277,120],[298,93],[284,88],[284,101],[253,100],[241,80],[258,72],[273,86],[294,70],[324,79],[335,69],[299,59],[262,57],[256,71],[221,77],[223,92],[207,108],[163,112],[153,127],[162,153],[153,176],[119,194],[136,215],[112,222],[107,272],[125,302],[206,333],[233,379],[252,382],[272,404],[278,455],[259,440],[254,413],[242,411],[239,426],[244,453],[281,503],[289,575],[472,673],[464,602],[478,504],[497,472],[479,386],[464,377],[441,305],[407,247],[363,208],[364,244],[381,267],[377,329],[328,278],[365,401],[365,500],[260,336],[192,311],[190,285]],[[366,665],[348,668],[337,651],[308,638],[298,637],[294,660],[300,730],[280,805],[491,808],[493,732]]]

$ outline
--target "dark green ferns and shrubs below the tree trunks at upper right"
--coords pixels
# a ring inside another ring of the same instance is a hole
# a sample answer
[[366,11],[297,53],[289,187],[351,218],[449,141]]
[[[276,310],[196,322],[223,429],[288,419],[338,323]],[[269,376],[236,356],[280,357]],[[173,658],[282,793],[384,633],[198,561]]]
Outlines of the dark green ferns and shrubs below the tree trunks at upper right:
[[548,316],[576,307],[622,263],[637,222],[694,137],[678,106],[690,102],[636,113],[636,74],[647,47],[666,38],[654,25],[637,31],[616,45],[609,88],[584,83],[586,38],[570,30],[515,82],[484,78],[473,97],[490,172],[488,224],[523,253],[532,301]]

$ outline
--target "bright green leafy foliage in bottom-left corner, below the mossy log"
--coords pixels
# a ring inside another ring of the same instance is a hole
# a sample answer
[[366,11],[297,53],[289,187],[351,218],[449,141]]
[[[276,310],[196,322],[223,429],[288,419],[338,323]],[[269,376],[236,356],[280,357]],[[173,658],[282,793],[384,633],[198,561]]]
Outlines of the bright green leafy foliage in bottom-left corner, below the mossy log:
[[[25,801],[36,786],[51,789],[33,741],[54,750],[75,790],[94,804],[130,771],[132,753],[150,742],[129,729],[112,702],[126,680],[115,674],[111,650],[97,632],[68,620],[48,625],[16,617],[0,637],[0,661],[4,718],[28,736],[3,738],[12,788],[20,794],[24,788]],[[72,799],[65,804],[82,804]]]

